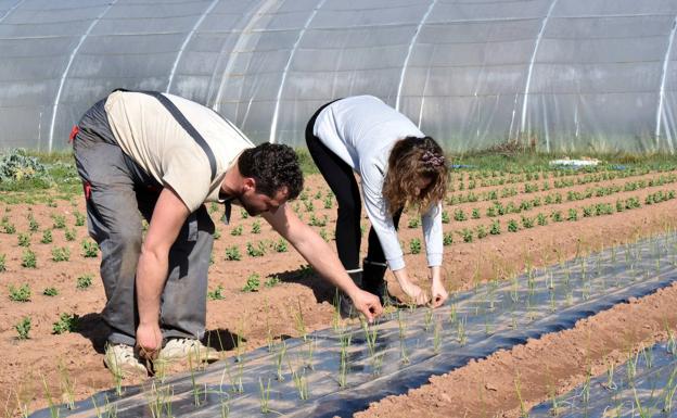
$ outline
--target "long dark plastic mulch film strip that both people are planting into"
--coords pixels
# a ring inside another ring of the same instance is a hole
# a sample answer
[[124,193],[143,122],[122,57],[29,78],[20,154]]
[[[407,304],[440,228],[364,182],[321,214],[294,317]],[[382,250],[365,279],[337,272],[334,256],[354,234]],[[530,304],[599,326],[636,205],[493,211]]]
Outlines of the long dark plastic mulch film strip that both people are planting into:
[[[628,297],[641,297],[677,278],[677,236],[635,244],[493,281],[454,295],[437,309],[401,309],[372,327],[327,329],[217,362],[206,370],[164,382],[93,396],[118,417],[150,414],[158,404],[171,414],[261,414],[261,393],[271,410],[292,416],[349,416],[369,402],[406,393],[433,375],[463,367],[498,350],[572,328]],[[265,388],[261,392],[261,385]],[[302,398],[303,397],[303,398]],[[95,416],[92,400],[62,416]],[[35,417],[49,416],[49,410]]]

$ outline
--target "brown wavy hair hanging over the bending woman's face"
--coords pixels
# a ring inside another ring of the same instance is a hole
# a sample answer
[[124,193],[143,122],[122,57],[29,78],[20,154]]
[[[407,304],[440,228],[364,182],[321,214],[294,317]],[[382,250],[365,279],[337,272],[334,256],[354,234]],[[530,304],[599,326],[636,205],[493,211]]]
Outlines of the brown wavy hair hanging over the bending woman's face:
[[[449,168],[442,147],[431,137],[407,137],[395,142],[383,181],[388,214],[401,207],[422,211],[440,202],[447,192]],[[419,189],[422,179],[430,185]]]

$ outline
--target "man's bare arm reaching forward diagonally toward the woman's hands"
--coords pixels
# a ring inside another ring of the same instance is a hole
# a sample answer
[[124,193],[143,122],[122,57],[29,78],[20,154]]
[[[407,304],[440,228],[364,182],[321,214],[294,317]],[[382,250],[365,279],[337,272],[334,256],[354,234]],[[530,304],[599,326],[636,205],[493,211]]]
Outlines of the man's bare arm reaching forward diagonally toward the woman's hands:
[[369,321],[381,315],[383,307],[375,295],[360,290],[347,275],[324,240],[312,228],[304,224],[289,205],[281,205],[276,212],[261,216],[284,237],[296,251],[329,282],[343,290],[365,314]]

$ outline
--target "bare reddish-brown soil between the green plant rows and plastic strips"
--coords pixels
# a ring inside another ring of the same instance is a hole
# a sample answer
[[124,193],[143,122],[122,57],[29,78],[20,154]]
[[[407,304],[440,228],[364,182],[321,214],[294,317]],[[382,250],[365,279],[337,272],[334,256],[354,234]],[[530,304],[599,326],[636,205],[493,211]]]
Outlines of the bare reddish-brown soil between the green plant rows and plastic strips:
[[[602,185],[623,185],[639,178],[615,179],[553,189],[563,195],[569,190],[580,191],[586,187]],[[580,177],[583,175],[574,176]],[[542,180],[537,181],[539,185]],[[306,180],[309,200],[314,210],[306,212],[304,202],[298,201],[303,218],[308,221],[310,213],[321,219],[328,216],[324,227],[316,227],[331,238],[335,219],[335,202],[333,208],[323,208],[323,199],[329,190],[319,176],[309,176]],[[516,186],[523,191],[523,187]],[[487,190],[491,188],[486,188]],[[569,207],[582,207],[592,203],[614,203],[616,199],[643,197],[657,190],[676,190],[677,185],[664,185],[623,192],[604,198],[593,198],[580,202],[565,202],[548,205],[527,212],[535,213],[558,210],[565,213]],[[483,189],[478,188],[475,192]],[[315,199],[317,192],[320,199]],[[457,192],[458,193],[458,192]],[[547,194],[547,192],[545,192]],[[540,194],[544,194],[541,192]],[[536,193],[520,193],[501,199],[502,202],[533,199]],[[35,410],[48,406],[44,384],[54,397],[63,392],[60,382],[64,376],[75,381],[75,397],[85,398],[95,392],[113,387],[113,378],[103,366],[103,350],[107,329],[102,321],[100,312],[105,302],[103,286],[98,278],[99,257],[84,257],[81,242],[87,238],[87,227],[75,227],[74,212],[85,213],[81,197],[72,201],[55,200],[56,207],[44,204],[7,205],[1,204],[0,215],[7,216],[16,227],[16,233],[0,233],[0,253],[5,254],[7,271],[0,273],[0,411],[7,416],[18,415],[20,409]],[[446,207],[452,213],[462,207],[470,214],[473,207],[484,207],[480,202]],[[459,291],[471,288],[475,282],[495,277],[506,278],[524,269],[525,263],[534,266],[553,264],[558,259],[573,257],[576,253],[597,250],[612,244],[635,240],[640,236],[657,233],[675,225],[672,216],[677,208],[677,200],[669,200],[654,205],[642,205],[641,208],[615,213],[608,216],[583,218],[577,221],[550,223],[548,226],[536,226],[533,229],[521,229],[511,233],[504,230],[510,218],[520,219],[520,215],[499,217],[503,232],[489,236],[472,243],[460,242],[455,236],[454,244],[445,246],[445,264],[447,289]],[[218,220],[221,208],[214,213]],[[22,267],[25,248],[18,245],[18,233],[28,232],[28,212],[33,213],[40,225],[37,232],[30,236],[30,249],[37,255],[37,268]],[[238,212],[238,211],[234,211]],[[76,238],[65,240],[63,229],[53,230],[53,242],[40,243],[42,231],[51,228],[54,215],[63,215],[68,230],[74,230]],[[421,237],[421,229],[408,228],[410,215],[405,214],[400,221],[400,240],[404,241],[405,253],[410,276],[422,287],[427,286],[427,268],[424,254],[409,254],[408,242],[411,238]],[[222,300],[208,301],[207,335],[213,346],[222,350],[223,355],[234,353],[235,343],[240,342],[243,350],[253,350],[265,345],[268,335],[274,338],[296,337],[299,331],[294,327],[294,316],[301,309],[308,330],[327,328],[331,325],[333,307],[331,301],[334,290],[321,278],[305,267],[305,261],[289,245],[288,252],[277,253],[268,250],[263,257],[247,255],[247,242],[257,244],[259,241],[277,242],[279,236],[263,219],[241,219],[235,213],[231,226],[217,224],[220,238],[215,241],[213,253],[214,264],[210,266],[209,290],[221,287]],[[259,221],[260,233],[253,233],[255,221]],[[363,219],[368,226],[368,220]],[[490,218],[484,215],[476,220],[455,221],[444,226],[445,231],[458,231],[465,227],[487,225]],[[231,231],[241,225],[240,237],[231,236]],[[0,228],[1,229],[1,228]],[[241,261],[225,261],[226,249],[238,245],[242,254]],[[333,242],[330,240],[333,248]],[[52,261],[52,250],[65,246],[71,252],[68,262]],[[362,249],[366,250],[366,242]],[[424,253],[424,252],[422,252]],[[258,292],[243,292],[247,277],[259,275],[261,287]],[[91,287],[77,289],[76,280],[82,275],[92,275]],[[267,288],[263,283],[271,277],[278,277],[280,283]],[[391,292],[401,295],[392,274],[387,276]],[[31,289],[30,302],[12,302],[9,299],[9,287],[28,283]],[[56,296],[42,294],[46,288],[58,289]],[[360,416],[518,416],[519,402],[515,395],[515,377],[520,376],[521,392],[524,402],[532,405],[548,397],[547,388],[563,393],[584,379],[585,367],[592,372],[603,371],[604,362],[623,360],[623,352],[627,347],[637,349],[639,342],[664,338],[664,318],[674,328],[677,324],[677,312],[670,309],[677,288],[670,288],[643,297],[630,305],[618,305],[612,311],[601,313],[592,318],[580,321],[575,329],[550,334],[538,341],[529,341],[509,352],[500,352],[487,359],[475,362],[451,373],[434,377],[431,384],[410,392],[405,396],[383,400]],[[80,316],[77,332],[53,334],[52,325],[61,313]],[[613,313],[613,315],[612,315]],[[23,317],[30,316],[31,329],[28,340],[17,340],[14,325]],[[642,320],[637,320],[642,318]],[[591,338],[590,335],[595,335]],[[614,354],[615,353],[615,354]],[[569,362],[562,362],[566,358]],[[516,370],[516,371],[515,371]],[[44,378],[44,383],[43,383]],[[125,384],[139,383],[128,380]],[[469,389],[470,388],[470,389]]]

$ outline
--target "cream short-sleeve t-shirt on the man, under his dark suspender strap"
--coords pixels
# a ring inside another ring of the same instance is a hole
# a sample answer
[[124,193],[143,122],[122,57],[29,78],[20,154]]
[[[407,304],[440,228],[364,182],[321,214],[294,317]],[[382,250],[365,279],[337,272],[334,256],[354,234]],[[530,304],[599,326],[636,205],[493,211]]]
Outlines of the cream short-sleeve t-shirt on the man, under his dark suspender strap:
[[226,172],[254,144],[234,125],[209,107],[173,94],[168,99],[204,138],[207,153],[159,100],[143,92],[115,91],[105,103],[111,130],[123,149],[159,183],[171,187],[191,211],[204,202],[220,202]]

